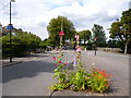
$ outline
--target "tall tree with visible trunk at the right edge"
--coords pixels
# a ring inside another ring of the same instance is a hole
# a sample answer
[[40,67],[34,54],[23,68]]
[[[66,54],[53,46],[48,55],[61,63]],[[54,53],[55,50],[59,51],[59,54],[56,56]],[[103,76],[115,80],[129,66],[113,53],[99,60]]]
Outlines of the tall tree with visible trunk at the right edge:
[[110,38],[121,42],[121,49],[127,52],[130,51],[131,44],[131,9],[123,11],[120,21],[114,22],[110,28]]

